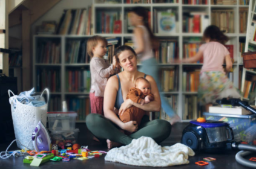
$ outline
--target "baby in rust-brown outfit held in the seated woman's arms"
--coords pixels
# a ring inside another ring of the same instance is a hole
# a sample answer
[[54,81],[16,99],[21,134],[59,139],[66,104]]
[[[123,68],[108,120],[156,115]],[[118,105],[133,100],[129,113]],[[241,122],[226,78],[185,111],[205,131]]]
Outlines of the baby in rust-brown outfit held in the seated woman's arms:
[[[135,88],[131,88],[126,96],[126,99],[128,98],[135,103],[140,103],[141,105],[153,101],[154,95],[151,94],[149,81],[143,77],[137,78],[135,81]],[[131,106],[129,109],[125,110],[119,118],[123,123],[128,121],[137,121],[137,124],[139,125],[145,113],[145,110],[139,109],[136,106]]]

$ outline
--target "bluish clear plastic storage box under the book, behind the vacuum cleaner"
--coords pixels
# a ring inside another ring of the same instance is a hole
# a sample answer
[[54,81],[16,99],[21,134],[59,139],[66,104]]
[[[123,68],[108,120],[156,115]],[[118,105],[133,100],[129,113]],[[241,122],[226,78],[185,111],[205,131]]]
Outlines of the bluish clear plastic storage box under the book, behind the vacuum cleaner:
[[234,133],[234,141],[256,145],[256,115],[228,115],[203,113],[206,120],[225,121],[230,124]]

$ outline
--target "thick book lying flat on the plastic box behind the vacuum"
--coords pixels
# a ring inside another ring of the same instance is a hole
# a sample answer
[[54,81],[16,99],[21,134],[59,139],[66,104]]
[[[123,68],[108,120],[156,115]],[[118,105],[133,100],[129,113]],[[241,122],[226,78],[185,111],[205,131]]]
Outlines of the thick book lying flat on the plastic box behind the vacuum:
[[[254,109],[256,106],[252,106]],[[252,112],[244,109],[243,107],[222,107],[222,106],[210,106],[209,107],[209,113],[223,113],[223,114],[230,114],[230,115],[249,115]]]

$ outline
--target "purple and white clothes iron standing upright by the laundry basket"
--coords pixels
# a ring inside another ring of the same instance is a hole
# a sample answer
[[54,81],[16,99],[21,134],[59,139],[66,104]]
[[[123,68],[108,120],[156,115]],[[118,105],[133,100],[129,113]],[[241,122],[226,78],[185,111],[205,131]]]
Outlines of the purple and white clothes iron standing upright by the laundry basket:
[[32,133],[32,141],[36,151],[50,151],[51,138],[41,121],[39,121]]

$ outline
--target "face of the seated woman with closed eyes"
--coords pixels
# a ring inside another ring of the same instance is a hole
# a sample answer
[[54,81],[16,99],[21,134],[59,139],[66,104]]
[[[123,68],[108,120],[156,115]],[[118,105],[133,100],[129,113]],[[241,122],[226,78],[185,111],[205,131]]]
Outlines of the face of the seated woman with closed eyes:
[[137,58],[134,56],[133,52],[130,50],[125,50],[119,54],[120,66],[125,71],[134,71],[137,70]]

